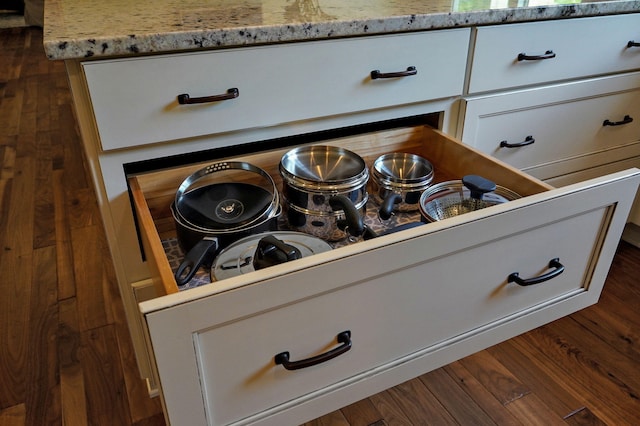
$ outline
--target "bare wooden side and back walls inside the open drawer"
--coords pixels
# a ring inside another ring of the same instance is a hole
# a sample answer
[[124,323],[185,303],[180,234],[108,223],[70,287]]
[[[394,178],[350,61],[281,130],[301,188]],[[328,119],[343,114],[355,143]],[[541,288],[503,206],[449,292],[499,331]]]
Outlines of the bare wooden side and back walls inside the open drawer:
[[[360,155],[369,167],[379,155],[390,152],[421,155],[433,164],[434,182],[460,179],[466,174],[477,174],[493,180],[498,185],[508,187],[522,196],[552,189],[548,184],[428,126],[406,127],[331,139],[322,144],[341,146],[351,150]],[[271,175],[278,188],[282,188],[278,165],[282,155],[291,148],[266,150],[241,157],[220,159],[220,161],[246,161],[258,166]],[[131,176],[128,179],[141,241],[158,296],[179,291],[162,243],[165,239],[175,237],[175,226],[170,211],[171,202],[182,181],[210,163],[212,161],[154,171]]]

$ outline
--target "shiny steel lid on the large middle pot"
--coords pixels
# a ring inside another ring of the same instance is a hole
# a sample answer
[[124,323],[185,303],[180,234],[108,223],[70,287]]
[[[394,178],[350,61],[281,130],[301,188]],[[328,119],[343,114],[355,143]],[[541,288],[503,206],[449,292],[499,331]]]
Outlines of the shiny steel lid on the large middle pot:
[[358,154],[326,145],[294,148],[282,156],[280,174],[291,185],[305,188],[360,185],[369,179],[367,165]]

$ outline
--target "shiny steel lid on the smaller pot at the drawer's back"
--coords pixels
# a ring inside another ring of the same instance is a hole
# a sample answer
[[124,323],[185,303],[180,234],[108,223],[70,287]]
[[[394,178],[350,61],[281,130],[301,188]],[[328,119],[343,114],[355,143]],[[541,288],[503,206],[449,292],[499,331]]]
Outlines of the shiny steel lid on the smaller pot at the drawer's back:
[[372,175],[381,185],[428,186],[433,180],[433,165],[416,154],[393,152],[374,161]]

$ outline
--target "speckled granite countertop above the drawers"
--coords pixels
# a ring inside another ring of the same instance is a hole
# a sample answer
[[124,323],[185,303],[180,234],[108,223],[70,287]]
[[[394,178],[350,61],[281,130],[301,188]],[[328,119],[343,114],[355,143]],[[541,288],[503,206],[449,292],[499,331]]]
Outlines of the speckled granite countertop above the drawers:
[[44,48],[52,60],[131,56],[639,11],[640,0],[47,0]]

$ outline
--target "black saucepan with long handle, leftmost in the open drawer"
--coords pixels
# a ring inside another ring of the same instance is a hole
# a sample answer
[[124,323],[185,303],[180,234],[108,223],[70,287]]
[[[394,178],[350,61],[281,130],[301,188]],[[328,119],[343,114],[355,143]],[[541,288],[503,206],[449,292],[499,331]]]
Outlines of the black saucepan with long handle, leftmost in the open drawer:
[[261,168],[245,162],[211,164],[188,176],[171,204],[178,243],[186,253],[175,273],[189,282],[200,266],[247,235],[274,231],[281,214],[276,185]]

